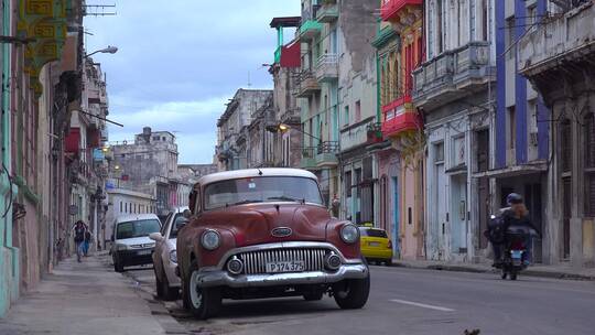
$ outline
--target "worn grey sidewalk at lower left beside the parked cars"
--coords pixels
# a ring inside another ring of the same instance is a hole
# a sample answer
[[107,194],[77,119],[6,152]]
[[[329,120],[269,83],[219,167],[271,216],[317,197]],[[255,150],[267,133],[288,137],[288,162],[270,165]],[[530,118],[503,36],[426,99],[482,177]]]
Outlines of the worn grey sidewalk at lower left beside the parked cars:
[[0,320],[0,334],[187,334],[105,256],[63,261]]

